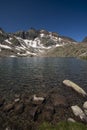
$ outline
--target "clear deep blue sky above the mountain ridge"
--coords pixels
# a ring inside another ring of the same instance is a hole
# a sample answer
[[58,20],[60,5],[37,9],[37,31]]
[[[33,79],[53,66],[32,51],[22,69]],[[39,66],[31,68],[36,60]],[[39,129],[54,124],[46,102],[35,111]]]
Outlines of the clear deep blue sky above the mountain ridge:
[[46,29],[81,41],[87,36],[87,0],[0,0],[0,27]]

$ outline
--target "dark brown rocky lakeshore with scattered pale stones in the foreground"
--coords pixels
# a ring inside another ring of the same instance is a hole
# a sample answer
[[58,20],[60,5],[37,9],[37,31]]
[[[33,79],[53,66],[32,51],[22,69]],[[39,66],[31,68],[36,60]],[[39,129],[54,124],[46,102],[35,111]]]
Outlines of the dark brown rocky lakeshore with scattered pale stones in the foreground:
[[[0,97],[0,130],[38,130],[43,122],[87,123],[87,97],[67,88],[74,98],[57,90],[38,94],[15,94],[12,101]],[[78,100],[78,102],[77,102]],[[79,102],[81,100],[81,102]],[[78,104],[77,104],[78,103]]]

